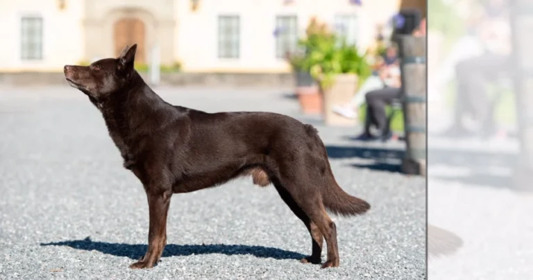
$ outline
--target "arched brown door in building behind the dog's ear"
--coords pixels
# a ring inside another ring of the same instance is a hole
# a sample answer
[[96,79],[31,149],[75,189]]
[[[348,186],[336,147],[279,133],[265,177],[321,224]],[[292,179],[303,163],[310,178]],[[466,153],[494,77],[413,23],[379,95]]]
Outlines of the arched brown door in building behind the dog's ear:
[[135,54],[135,62],[146,63],[146,51],[144,42],[146,31],[144,22],[135,17],[124,17],[115,22],[115,56],[118,56],[120,51],[127,44],[137,44],[137,53]]

